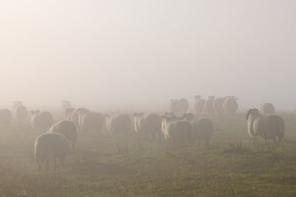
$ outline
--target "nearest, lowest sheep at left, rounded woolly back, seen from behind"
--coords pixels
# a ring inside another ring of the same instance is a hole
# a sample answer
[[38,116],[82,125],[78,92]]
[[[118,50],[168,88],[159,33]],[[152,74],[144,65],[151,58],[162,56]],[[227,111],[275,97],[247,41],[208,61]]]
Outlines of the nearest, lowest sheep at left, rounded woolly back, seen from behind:
[[35,159],[38,171],[41,172],[41,162],[46,162],[46,171],[49,171],[49,162],[59,159],[64,164],[65,156],[69,153],[69,142],[62,134],[45,133],[37,137],[35,141]]

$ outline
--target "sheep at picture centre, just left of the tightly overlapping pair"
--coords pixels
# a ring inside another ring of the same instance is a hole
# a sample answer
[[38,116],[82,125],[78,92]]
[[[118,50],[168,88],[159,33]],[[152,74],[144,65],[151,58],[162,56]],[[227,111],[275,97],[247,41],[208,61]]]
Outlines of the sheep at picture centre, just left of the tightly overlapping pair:
[[139,135],[144,134],[147,139],[147,134],[152,134],[153,140],[154,135],[159,135],[162,132],[161,118],[157,114],[144,115],[143,113],[134,113],[134,130]]

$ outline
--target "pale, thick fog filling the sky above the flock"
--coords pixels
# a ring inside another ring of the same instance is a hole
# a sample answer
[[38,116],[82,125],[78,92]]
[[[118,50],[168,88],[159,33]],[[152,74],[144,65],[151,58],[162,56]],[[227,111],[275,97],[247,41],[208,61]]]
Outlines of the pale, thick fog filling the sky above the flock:
[[[0,105],[295,107],[296,1],[0,2]],[[151,108],[152,107],[152,108]]]

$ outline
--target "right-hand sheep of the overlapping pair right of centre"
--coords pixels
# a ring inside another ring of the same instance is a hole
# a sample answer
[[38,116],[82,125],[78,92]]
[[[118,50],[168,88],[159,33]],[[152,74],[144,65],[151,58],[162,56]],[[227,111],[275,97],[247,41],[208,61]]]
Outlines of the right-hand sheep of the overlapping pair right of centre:
[[191,123],[191,137],[193,140],[206,140],[206,144],[210,142],[213,135],[213,122],[208,117],[200,117],[195,119],[191,113],[184,114],[183,119]]

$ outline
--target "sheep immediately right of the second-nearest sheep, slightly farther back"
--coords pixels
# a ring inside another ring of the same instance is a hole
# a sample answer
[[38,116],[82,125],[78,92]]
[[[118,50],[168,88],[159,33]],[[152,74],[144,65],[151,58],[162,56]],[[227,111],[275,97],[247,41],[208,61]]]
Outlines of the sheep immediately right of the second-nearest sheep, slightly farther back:
[[80,121],[81,132],[97,132],[99,134],[104,126],[104,116],[97,112],[86,112]]

